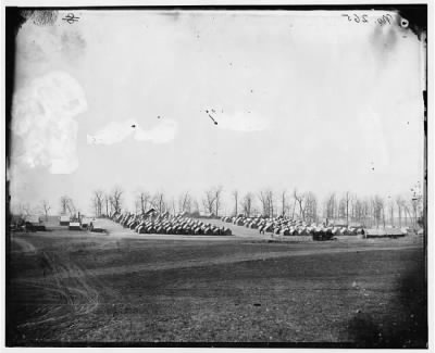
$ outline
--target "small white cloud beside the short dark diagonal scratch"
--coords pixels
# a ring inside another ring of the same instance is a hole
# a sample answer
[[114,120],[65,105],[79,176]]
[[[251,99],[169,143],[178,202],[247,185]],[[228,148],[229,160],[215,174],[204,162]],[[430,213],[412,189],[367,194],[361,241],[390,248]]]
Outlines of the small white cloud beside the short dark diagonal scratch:
[[269,122],[259,115],[247,111],[226,114],[209,111],[209,114],[217,122],[217,127],[234,131],[262,131],[269,128]]

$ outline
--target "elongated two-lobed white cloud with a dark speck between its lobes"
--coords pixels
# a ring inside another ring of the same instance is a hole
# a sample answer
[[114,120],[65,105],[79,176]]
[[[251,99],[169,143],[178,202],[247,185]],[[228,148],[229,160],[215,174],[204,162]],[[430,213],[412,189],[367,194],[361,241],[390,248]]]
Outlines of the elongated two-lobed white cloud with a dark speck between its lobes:
[[151,129],[142,129],[133,119],[124,122],[111,122],[95,135],[87,136],[89,144],[114,144],[120,143],[129,136],[137,141],[150,141],[153,143],[165,143],[175,138],[177,124],[172,119],[162,119]]

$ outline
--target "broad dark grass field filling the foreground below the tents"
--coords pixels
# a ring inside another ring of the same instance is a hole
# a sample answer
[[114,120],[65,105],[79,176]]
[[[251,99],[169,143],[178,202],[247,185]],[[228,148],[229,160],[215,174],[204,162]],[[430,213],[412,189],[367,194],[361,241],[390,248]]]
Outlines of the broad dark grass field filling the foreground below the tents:
[[421,238],[275,242],[108,227],[12,235],[8,345],[426,345]]

